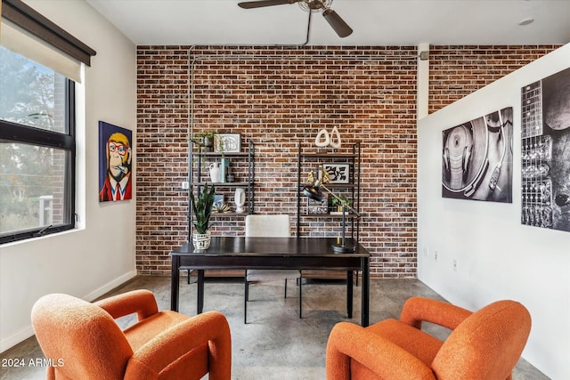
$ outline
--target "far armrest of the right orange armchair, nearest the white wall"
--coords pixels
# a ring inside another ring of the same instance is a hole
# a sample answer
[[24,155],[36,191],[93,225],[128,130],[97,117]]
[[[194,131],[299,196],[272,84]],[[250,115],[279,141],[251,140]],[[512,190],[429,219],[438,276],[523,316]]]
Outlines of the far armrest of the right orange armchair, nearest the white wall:
[[421,322],[425,320],[453,330],[471,314],[473,314],[472,311],[451,303],[424,297],[411,297],[403,304],[400,321],[421,328]]

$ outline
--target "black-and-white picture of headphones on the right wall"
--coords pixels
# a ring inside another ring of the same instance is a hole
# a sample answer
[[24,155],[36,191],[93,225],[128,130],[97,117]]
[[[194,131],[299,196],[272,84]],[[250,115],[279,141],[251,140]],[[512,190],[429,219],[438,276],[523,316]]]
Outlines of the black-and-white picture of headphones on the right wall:
[[512,203],[513,109],[443,132],[442,196]]

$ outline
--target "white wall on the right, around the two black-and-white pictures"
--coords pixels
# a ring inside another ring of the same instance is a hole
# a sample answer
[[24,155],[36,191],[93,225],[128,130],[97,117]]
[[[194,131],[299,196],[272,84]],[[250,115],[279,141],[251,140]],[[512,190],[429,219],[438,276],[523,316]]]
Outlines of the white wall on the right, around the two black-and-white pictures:
[[[469,310],[525,304],[533,328],[523,357],[553,379],[570,378],[570,232],[520,223],[520,98],[522,86],[568,67],[570,44],[418,122],[419,279]],[[442,198],[442,131],[505,107],[514,112],[513,203]]]

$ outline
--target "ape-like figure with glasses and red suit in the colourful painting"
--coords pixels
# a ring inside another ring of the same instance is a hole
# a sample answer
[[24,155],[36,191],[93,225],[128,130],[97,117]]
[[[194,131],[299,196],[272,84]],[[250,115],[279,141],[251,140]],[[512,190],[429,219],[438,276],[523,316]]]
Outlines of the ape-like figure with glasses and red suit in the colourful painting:
[[113,133],[106,144],[107,174],[99,201],[132,198],[131,145],[123,133]]

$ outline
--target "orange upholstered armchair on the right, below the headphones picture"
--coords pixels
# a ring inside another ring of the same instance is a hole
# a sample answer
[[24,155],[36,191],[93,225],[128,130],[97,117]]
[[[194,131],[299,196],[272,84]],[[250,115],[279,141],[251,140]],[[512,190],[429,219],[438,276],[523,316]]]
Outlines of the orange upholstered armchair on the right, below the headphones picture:
[[[452,332],[442,342],[420,329],[422,320]],[[509,379],[530,329],[530,314],[514,301],[471,312],[413,297],[403,305],[400,320],[333,327],[327,379]]]

